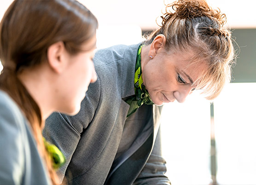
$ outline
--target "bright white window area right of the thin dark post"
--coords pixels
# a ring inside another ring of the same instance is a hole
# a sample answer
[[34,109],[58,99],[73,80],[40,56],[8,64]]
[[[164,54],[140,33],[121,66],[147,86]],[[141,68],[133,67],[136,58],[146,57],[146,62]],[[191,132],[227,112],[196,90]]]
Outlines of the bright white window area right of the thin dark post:
[[232,83],[214,101],[220,185],[256,185],[255,92],[256,83]]

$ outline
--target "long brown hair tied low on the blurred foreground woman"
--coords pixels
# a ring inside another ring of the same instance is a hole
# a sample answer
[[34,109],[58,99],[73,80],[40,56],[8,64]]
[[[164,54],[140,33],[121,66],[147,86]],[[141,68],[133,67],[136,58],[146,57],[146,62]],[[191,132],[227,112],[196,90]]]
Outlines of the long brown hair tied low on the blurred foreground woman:
[[53,184],[58,184],[58,177],[43,144],[41,111],[18,74],[46,62],[48,47],[58,41],[64,42],[70,54],[77,54],[97,28],[97,19],[76,0],[14,0],[0,23],[0,59],[4,67],[0,89],[27,117]]

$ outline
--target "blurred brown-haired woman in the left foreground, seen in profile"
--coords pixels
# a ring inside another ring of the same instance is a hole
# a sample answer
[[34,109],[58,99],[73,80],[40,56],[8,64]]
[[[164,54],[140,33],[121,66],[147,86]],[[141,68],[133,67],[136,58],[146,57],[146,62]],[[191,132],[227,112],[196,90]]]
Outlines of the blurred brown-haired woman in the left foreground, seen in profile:
[[75,115],[96,81],[97,27],[76,0],[15,0],[7,9],[0,23],[0,184],[58,184],[41,131],[53,111]]

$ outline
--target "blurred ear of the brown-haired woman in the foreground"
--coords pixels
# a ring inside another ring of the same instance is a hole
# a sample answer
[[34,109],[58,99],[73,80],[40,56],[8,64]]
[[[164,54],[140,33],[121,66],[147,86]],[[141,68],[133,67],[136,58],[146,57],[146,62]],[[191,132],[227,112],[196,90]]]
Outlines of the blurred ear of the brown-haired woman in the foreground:
[[47,59],[50,68],[56,73],[61,73],[64,70],[67,52],[62,41],[56,42],[48,47]]

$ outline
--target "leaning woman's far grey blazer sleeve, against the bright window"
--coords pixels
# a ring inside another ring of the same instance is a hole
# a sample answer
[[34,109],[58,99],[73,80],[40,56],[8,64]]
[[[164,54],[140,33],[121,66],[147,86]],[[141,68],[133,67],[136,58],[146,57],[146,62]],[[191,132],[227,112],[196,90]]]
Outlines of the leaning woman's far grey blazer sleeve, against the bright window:
[[133,185],[171,185],[166,173],[166,162],[161,151],[160,127],[152,153]]

